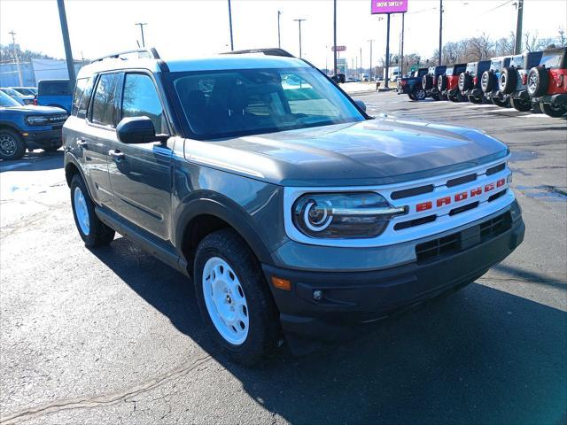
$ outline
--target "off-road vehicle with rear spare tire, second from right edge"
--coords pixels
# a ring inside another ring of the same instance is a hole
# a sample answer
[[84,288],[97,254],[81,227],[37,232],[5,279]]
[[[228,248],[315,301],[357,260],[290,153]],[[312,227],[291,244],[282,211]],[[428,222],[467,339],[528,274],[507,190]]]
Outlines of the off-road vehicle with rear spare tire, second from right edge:
[[503,97],[508,97],[510,105],[517,111],[532,109],[532,99],[527,92],[528,73],[533,66],[540,65],[542,51],[527,51],[510,58],[509,66],[502,69],[499,87]]

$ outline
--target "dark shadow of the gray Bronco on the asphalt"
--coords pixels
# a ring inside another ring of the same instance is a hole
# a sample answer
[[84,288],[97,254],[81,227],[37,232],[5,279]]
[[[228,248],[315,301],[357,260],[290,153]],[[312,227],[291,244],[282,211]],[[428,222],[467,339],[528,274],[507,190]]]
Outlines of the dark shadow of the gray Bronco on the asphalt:
[[93,252],[257,403],[291,423],[567,419],[567,313],[546,305],[473,283],[382,321],[364,339],[303,358],[282,348],[247,369],[206,337],[190,280],[125,238]]

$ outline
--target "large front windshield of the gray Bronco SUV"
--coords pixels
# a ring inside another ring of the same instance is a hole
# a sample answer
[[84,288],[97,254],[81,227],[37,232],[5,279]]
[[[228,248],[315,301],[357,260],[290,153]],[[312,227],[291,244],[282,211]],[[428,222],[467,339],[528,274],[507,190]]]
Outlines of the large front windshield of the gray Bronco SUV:
[[191,131],[200,139],[361,121],[361,112],[314,68],[173,73]]

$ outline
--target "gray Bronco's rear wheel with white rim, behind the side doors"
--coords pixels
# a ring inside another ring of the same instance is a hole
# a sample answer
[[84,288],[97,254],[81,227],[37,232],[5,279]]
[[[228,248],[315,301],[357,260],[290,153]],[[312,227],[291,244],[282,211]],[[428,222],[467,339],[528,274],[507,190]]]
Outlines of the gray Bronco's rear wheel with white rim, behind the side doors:
[[95,204],[90,199],[87,186],[79,174],[76,174],[71,181],[71,206],[74,223],[87,248],[113,242],[114,230],[98,219]]

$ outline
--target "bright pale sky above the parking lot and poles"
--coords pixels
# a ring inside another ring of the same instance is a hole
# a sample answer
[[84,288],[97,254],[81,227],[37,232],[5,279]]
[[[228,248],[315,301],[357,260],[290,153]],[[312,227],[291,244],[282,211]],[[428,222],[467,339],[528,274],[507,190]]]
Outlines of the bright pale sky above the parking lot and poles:
[[[445,0],[443,41],[456,41],[483,32],[493,38],[516,30],[514,0]],[[332,61],[332,0],[232,0],[235,49],[277,46],[277,11],[281,11],[282,48],[299,55],[298,23],[302,23],[303,57],[324,67]],[[146,46],[161,56],[194,57],[229,49],[227,0],[66,0],[66,14],[74,58],[96,58],[141,42],[135,22],[147,22]],[[369,66],[369,39],[373,58],[384,57],[386,24],[370,14],[370,0],[338,0],[338,45],[341,57],[360,55]],[[556,36],[567,27],[567,1],[524,0],[524,32]],[[391,51],[400,45],[401,15],[392,15]],[[0,43],[17,33],[22,49],[64,58],[65,52],[55,0],[1,0]],[[439,43],[439,0],[408,0],[405,52],[429,58]]]

